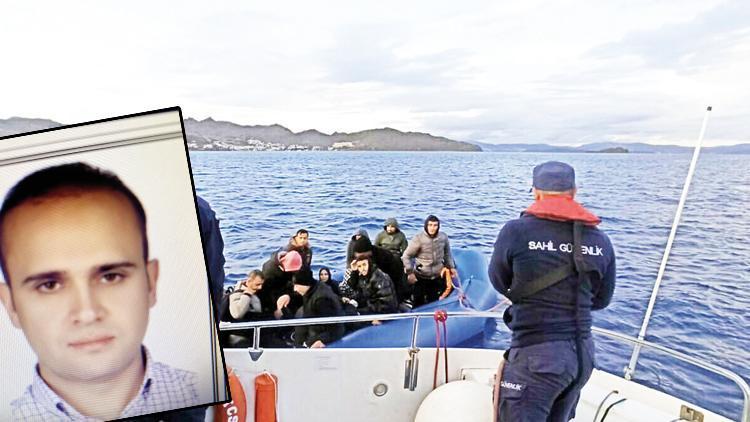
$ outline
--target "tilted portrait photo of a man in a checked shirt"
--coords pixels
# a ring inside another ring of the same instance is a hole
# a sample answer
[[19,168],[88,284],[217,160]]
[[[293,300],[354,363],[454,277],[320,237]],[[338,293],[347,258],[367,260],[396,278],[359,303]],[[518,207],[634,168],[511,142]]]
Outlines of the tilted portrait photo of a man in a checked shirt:
[[226,401],[178,108],[0,139],[1,420]]

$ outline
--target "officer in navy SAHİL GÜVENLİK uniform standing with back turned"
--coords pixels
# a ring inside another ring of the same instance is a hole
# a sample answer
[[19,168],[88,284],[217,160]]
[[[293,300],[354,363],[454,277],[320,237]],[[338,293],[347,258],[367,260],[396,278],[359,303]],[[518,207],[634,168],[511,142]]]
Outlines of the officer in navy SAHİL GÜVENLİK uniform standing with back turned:
[[488,267],[513,302],[498,420],[568,421],[593,370],[591,311],[612,299],[615,255],[599,218],[573,199],[573,167],[540,164],[532,186],[534,203],[502,227]]

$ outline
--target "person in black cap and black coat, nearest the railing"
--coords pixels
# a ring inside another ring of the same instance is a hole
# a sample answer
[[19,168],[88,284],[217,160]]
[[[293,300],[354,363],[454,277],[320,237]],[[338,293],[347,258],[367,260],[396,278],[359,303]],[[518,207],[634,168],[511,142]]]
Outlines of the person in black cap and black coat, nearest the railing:
[[[343,315],[341,299],[331,290],[328,283],[317,282],[306,272],[292,277],[294,291],[302,296],[302,307],[297,311],[299,318],[335,317]],[[325,347],[344,335],[342,324],[300,325],[294,329],[296,346],[312,349]]]

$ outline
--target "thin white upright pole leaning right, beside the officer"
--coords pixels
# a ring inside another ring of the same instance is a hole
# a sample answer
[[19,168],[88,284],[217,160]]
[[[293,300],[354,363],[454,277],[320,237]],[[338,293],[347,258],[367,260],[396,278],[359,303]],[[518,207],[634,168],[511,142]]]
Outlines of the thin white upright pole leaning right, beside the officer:
[[[641,331],[638,333],[638,339],[644,340],[646,338],[646,329],[648,328],[648,322],[651,319],[651,312],[654,309],[656,303],[656,296],[659,293],[659,285],[661,285],[661,279],[664,276],[664,270],[667,268],[667,261],[669,260],[669,252],[672,250],[672,243],[674,242],[675,234],[677,234],[677,226],[680,225],[680,217],[682,216],[682,208],[685,206],[685,200],[687,199],[688,191],[690,190],[690,182],[693,179],[693,173],[695,172],[695,166],[698,163],[698,156],[701,152],[701,143],[703,143],[703,135],[706,133],[706,125],[708,124],[708,116],[711,114],[711,106],[706,109],[706,115],[703,118],[703,127],[701,127],[701,133],[698,135],[698,143],[693,151],[693,160],[690,162],[690,169],[688,169],[688,175],[685,179],[685,185],[682,187],[682,195],[680,196],[680,202],[677,205],[677,214],[675,214],[674,221],[672,222],[672,231],[669,232],[669,239],[667,239],[667,248],[664,250],[664,255],[661,259],[661,265],[659,266],[659,273],[656,276],[656,283],[654,283],[654,289],[651,291],[651,299],[648,302],[648,308],[646,308],[646,316],[643,318],[643,325],[641,325]],[[630,380],[635,373],[635,366],[638,362],[638,355],[641,353],[641,345],[636,344],[633,349],[633,354],[630,356],[630,363],[625,367],[625,379]]]

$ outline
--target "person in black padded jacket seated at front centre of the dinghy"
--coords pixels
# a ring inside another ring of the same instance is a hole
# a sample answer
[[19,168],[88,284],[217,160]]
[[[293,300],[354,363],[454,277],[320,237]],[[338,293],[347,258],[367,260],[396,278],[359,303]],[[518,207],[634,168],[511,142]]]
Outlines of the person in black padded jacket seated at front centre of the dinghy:
[[398,309],[393,281],[371,258],[355,258],[344,272],[339,288],[344,303],[356,307],[362,315],[388,314]]

